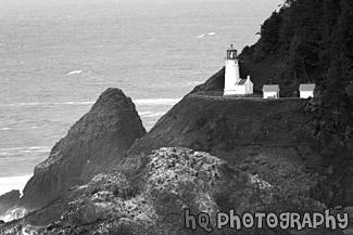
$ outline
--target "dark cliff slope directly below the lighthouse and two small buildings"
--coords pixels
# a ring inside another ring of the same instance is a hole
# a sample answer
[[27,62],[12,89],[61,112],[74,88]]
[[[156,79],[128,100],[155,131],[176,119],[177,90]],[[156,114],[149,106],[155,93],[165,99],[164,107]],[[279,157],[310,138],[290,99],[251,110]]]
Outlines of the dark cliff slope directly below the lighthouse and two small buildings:
[[[211,80],[193,91],[217,87]],[[299,99],[225,101],[187,95],[131,146],[125,162],[134,165],[162,146],[189,147],[259,174],[289,198],[303,195],[327,206],[350,206],[352,172],[346,162],[352,152],[317,128],[318,109],[317,101]]]

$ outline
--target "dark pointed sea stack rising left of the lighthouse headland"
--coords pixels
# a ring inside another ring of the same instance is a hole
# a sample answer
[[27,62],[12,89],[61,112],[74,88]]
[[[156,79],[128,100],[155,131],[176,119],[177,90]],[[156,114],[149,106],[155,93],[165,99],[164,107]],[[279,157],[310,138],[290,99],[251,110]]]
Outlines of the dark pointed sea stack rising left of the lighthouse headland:
[[38,208],[119,162],[136,139],[146,133],[131,100],[108,89],[35,168],[21,205]]

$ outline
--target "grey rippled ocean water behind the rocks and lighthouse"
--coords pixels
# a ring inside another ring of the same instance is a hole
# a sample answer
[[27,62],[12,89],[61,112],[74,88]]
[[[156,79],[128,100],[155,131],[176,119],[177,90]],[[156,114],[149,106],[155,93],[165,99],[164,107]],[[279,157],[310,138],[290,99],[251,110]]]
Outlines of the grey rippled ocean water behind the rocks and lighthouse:
[[257,39],[282,0],[0,0],[0,195],[110,87],[147,130]]

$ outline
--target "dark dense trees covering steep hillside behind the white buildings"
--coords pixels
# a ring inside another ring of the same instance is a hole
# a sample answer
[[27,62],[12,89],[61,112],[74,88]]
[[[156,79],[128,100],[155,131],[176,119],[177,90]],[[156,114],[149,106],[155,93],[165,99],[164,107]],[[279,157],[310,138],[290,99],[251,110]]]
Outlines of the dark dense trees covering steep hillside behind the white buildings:
[[320,101],[316,128],[352,143],[353,1],[286,0],[260,35],[241,53],[245,65],[265,68],[257,80],[253,76],[255,82],[279,83],[285,96],[298,95],[300,83],[315,82]]

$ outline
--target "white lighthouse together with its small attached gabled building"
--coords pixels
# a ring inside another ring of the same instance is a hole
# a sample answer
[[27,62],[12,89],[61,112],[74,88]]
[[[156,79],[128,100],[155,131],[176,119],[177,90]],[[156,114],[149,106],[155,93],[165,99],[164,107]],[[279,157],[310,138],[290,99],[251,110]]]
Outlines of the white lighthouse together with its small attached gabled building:
[[244,95],[252,93],[253,83],[250,80],[250,76],[247,79],[240,78],[237,50],[231,44],[227,50],[224,95]]

